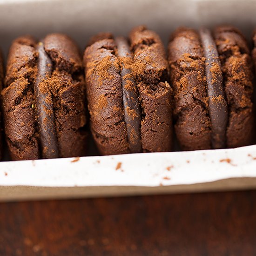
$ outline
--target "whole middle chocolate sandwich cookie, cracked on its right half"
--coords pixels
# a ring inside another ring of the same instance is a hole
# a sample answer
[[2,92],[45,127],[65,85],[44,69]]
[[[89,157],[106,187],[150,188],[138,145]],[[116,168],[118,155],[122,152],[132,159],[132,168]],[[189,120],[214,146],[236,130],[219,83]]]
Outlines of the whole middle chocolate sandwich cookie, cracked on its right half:
[[84,53],[90,126],[102,155],[170,151],[171,88],[159,36],[146,27],[90,40]]

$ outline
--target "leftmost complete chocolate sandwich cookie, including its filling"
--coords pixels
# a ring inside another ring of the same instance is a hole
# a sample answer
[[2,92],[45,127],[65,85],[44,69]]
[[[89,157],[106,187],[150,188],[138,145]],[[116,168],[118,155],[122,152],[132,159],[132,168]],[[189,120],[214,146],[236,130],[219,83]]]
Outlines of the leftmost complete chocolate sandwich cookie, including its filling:
[[13,41],[1,93],[13,160],[85,155],[84,87],[81,56],[68,36]]

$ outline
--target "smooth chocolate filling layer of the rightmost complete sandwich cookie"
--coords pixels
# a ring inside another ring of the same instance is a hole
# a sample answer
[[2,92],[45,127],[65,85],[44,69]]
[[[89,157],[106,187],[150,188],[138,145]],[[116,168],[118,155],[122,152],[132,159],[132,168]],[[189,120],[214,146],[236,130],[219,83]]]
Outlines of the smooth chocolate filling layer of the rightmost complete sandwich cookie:
[[199,30],[205,57],[205,73],[207,93],[209,97],[209,115],[211,120],[212,148],[226,147],[226,129],[228,123],[228,107],[223,90],[221,62],[209,29]]

